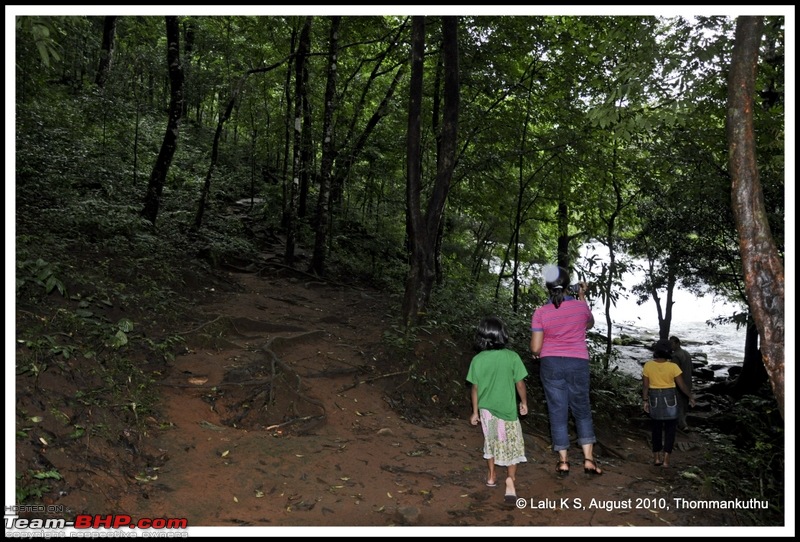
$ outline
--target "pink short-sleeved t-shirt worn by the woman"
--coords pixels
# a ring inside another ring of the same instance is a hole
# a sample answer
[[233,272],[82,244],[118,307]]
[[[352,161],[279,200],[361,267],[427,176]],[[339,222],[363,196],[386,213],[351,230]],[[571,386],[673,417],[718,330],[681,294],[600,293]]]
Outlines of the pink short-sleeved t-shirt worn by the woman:
[[589,305],[578,299],[566,299],[558,308],[548,303],[536,309],[531,318],[531,331],[544,332],[539,356],[589,359],[586,324],[591,319]]

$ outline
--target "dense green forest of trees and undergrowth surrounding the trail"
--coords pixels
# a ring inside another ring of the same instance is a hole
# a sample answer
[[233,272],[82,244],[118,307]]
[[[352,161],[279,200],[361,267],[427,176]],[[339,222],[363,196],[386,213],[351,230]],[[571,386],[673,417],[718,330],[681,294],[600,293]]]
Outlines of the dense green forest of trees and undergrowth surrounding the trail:
[[620,296],[654,300],[662,337],[677,287],[722,296],[746,310],[716,323],[747,329],[726,393],[782,427],[785,23],[19,16],[17,374],[171,355],[133,311],[172,314],[182,266],[270,238],[287,267],[394,293],[395,344],[489,308],[525,344],[542,266],[566,266],[604,307],[601,371]]

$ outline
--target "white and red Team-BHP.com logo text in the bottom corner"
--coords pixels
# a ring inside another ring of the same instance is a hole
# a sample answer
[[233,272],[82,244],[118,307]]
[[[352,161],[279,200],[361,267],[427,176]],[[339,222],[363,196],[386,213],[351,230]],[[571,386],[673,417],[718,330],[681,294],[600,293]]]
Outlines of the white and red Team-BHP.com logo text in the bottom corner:
[[72,529],[186,529],[186,518],[140,518],[134,520],[128,515],[89,515],[75,516],[74,521],[57,518],[19,518],[5,516],[6,530],[62,530]]

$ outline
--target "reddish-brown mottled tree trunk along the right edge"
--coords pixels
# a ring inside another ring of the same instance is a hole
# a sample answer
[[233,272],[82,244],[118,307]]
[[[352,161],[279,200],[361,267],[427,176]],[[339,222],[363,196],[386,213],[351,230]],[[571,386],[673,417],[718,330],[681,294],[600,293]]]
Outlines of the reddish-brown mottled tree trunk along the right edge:
[[753,103],[763,17],[741,16],[728,78],[727,135],[731,199],[748,305],[758,327],[761,354],[784,415],[784,270],[767,220],[756,164]]

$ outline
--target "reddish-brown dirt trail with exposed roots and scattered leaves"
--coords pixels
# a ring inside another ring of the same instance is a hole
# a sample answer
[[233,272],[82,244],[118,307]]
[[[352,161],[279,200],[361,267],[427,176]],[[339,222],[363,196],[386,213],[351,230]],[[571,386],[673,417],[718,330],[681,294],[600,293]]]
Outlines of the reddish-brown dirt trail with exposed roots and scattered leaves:
[[[187,518],[192,527],[724,526],[734,518],[679,510],[682,473],[702,460],[697,434],[680,434],[673,468],[650,464],[647,429],[598,428],[603,476],[555,475],[547,435],[526,435],[519,504],[485,485],[483,438],[462,418],[436,428],[404,419],[386,386],[403,384],[381,334],[380,292],[236,273],[187,322],[188,351],[160,383],[153,458],[114,502],[91,490],[76,511]],[[469,356],[469,353],[465,353]],[[544,412],[544,405],[531,405]],[[501,470],[502,472],[502,470]],[[696,485],[696,484],[695,484]],[[331,534],[333,531],[323,531]],[[267,531],[265,534],[270,534]]]

